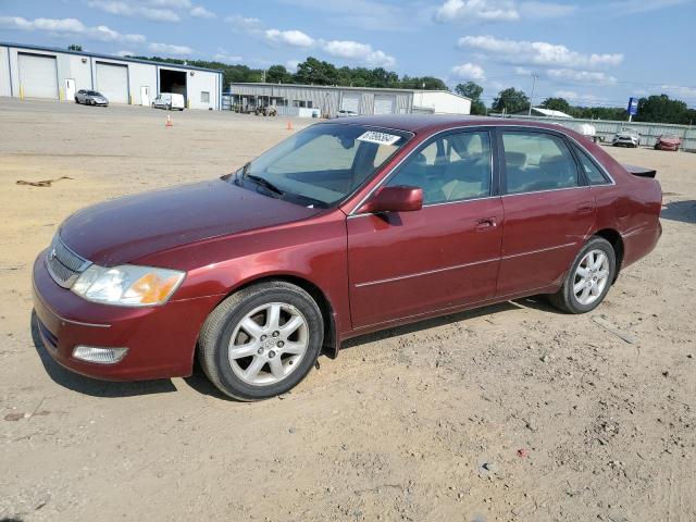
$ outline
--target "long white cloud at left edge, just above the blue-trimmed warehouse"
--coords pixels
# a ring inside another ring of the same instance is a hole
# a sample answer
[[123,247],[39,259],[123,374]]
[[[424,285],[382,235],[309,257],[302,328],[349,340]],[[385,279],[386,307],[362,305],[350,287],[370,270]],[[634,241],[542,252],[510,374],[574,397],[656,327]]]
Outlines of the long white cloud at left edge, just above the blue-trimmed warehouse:
[[35,18],[26,20],[21,16],[0,16],[0,28],[17,30],[41,30],[50,36],[73,37],[82,36],[91,40],[115,41],[122,44],[144,44],[145,36],[122,34],[105,25],[88,27],[77,18]]

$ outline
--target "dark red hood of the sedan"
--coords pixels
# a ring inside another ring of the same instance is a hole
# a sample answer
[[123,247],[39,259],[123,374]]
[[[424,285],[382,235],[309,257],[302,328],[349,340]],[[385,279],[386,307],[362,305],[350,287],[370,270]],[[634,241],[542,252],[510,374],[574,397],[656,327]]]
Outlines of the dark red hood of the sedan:
[[114,266],[201,239],[290,223],[319,212],[215,179],[88,207],[65,220],[60,235],[75,253]]

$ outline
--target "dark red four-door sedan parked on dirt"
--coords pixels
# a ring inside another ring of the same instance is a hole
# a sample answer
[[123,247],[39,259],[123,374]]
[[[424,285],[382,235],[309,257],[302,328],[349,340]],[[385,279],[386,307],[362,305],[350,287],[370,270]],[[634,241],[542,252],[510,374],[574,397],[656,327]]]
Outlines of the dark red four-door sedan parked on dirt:
[[287,391],[322,348],[547,294],[597,307],[661,234],[654,171],[515,121],[320,123],[234,174],[70,216],[34,265],[38,327],[66,368]]

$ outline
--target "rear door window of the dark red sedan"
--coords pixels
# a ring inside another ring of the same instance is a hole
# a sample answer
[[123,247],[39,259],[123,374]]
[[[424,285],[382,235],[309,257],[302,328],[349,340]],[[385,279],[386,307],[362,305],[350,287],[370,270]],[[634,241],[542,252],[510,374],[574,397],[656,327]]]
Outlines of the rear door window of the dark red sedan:
[[524,194],[581,186],[577,163],[555,135],[502,132],[506,192]]

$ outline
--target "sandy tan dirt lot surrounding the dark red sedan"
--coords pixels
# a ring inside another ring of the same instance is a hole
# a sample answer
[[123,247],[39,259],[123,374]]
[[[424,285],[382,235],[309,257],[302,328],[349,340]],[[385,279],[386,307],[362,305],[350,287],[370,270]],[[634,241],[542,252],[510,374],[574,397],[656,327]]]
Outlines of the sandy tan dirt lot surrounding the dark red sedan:
[[526,299],[365,336],[248,405],[200,373],[71,374],[32,331],[30,265],[71,212],[291,132],[173,120],[0,99],[0,520],[696,520],[696,154],[610,150],[657,167],[664,234],[594,313]]

